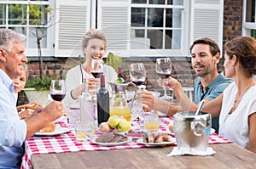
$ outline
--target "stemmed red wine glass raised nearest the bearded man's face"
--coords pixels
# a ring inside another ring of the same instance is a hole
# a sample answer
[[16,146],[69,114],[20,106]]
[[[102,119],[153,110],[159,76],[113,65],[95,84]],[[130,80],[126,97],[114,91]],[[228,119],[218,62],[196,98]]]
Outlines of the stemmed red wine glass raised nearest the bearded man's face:
[[[169,58],[156,59],[155,70],[161,79],[167,79],[169,76],[171,76],[171,72],[172,72],[171,59],[169,59]],[[163,87],[163,88],[164,88],[165,93],[162,97],[160,97],[160,99],[172,99],[171,96],[168,96],[166,94],[166,87]]]

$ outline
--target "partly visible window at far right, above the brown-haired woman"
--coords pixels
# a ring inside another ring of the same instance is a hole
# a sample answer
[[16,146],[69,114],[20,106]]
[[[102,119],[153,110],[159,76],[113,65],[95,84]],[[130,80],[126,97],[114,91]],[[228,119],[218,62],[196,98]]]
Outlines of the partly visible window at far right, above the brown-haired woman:
[[242,35],[256,38],[255,0],[243,1]]

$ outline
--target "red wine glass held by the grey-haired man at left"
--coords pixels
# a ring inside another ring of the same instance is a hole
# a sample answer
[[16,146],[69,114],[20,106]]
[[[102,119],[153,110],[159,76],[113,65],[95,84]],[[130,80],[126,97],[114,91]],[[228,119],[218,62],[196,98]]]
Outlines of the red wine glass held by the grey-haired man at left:
[[64,80],[52,80],[50,83],[50,97],[55,101],[61,101],[66,96],[66,84]]

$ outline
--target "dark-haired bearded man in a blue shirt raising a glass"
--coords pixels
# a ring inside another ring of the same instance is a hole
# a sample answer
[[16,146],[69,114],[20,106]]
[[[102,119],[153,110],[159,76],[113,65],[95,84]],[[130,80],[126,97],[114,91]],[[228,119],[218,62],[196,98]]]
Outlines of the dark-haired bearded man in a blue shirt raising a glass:
[[[195,103],[191,103],[183,88],[176,79],[169,77],[168,87],[173,89],[180,105],[170,104],[164,100],[154,99],[150,93],[138,93],[137,98],[142,99],[143,104],[154,110],[160,110],[167,115],[174,115],[177,111],[190,110],[204,99],[205,103],[215,99],[232,82],[223,75],[218,74],[217,64],[220,59],[218,44],[210,38],[201,38],[193,42],[190,47],[191,62],[195,74],[194,93]],[[166,80],[159,80],[160,85],[166,85]],[[218,132],[218,117],[212,118],[212,127]]]

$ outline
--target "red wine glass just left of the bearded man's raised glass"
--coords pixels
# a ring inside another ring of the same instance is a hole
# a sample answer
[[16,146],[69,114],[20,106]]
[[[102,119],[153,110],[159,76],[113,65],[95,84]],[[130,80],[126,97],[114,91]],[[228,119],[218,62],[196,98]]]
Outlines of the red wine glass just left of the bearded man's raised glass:
[[141,86],[146,80],[146,70],[143,63],[134,63],[130,65],[131,82],[137,87]]

